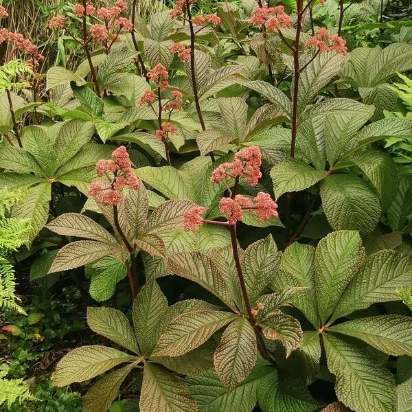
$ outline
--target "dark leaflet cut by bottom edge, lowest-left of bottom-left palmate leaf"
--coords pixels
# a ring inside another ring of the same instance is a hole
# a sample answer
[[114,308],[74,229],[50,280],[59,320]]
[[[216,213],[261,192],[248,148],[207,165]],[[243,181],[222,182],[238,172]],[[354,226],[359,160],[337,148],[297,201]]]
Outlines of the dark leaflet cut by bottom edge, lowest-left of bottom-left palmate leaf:
[[83,412],[107,412],[134,363],[104,375],[83,396]]

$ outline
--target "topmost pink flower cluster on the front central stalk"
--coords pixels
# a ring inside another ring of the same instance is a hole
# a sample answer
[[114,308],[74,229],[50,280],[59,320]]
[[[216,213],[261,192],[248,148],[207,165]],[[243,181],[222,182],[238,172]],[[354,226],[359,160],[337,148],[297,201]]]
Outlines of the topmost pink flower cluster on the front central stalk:
[[227,178],[240,178],[244,176],[244,181],[251,186],[258,184],[262,177],[260,165],[262,164],[262,153],[258,146],[249,146],[239,150],[233,162],[222,163],[211,174],[210,183],[219,183]]

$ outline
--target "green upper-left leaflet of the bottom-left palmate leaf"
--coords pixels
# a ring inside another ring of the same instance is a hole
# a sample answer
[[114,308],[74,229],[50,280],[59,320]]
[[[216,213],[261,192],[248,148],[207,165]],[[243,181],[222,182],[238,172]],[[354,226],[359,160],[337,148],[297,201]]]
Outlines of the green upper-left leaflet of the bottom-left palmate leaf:
[[107,339],[138,354],[138,344],[130,323],[123,312],[114,308],[87,308],[89,328]]

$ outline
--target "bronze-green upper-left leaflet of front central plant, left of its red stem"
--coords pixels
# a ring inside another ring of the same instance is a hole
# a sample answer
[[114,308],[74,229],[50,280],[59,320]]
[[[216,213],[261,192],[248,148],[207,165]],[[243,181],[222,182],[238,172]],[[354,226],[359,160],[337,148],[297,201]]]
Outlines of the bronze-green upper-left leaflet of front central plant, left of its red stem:
[[203,253],[181,252],[168,256],[172,273],[190,279],[232,307],[229,284],[211,258]]

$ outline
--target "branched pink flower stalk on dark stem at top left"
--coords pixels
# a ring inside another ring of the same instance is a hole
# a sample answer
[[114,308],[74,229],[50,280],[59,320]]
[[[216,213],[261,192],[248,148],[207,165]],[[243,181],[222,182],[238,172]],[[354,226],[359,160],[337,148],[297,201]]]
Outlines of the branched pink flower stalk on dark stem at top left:
[[[67,33],[73,38],[76,43],[82,47],[84,54],[86,54],[87,61],[89,62],[89,68],[91,78],[95,86],[95,92],[100,96],[100,87],[98,83],[98,76],[95,67],[93,66],[93,60],[91,59],[91,53],[89,50],[89,43],[91,41],[100,41],[104,46],[104,51],[109,54],[111,47],[122,32],[133,32],[133,23],[122,17],[122,13],[126,11],[128,5],[123,0],[117,0],[113,7],[95,9],[91,1],[82,0],[82,4],[73,5],[73,14],[75,14],[82,21],[81,40],[74,36],[69,27],[65,26],[65,16],[62,14],[56,14],[48,21],[47,27],[54,30],[65,29]],[[90,30],[88,30],[87,23],[91,23]]]

